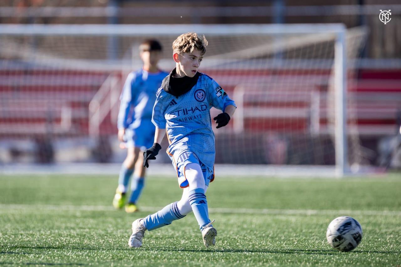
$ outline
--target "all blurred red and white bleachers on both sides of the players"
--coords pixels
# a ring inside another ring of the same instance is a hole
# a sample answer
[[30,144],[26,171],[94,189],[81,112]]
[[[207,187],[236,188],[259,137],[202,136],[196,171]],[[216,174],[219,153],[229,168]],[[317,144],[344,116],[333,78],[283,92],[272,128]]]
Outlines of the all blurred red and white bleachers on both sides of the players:
[[[254,73],[252,79],[259,79],[263,86],[248,87],[240,83],[238,73],[232,77],[213,71],[208,74],[239,105],[235,129],[325,133],[328,93],[318,84],[276,91],[269,76]],[[0,73],[0,136],[87,135],[89,102],[106,78],[107,73],[68,70],[61,74],[40,70]],[[361,70],[357,83],[348,85],[348,92],[348,117],[357,119],[360,135],[394,134],[401,110],[401,70]],[[348,130],[351,134],[356,129]]]

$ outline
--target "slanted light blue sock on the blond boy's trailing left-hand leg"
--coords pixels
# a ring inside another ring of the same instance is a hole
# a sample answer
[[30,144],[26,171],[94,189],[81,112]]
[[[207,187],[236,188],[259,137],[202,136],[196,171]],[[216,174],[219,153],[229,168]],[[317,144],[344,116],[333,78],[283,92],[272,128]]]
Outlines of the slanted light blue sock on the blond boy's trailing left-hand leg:
[[177,202],[168,204],[158,212],[148,215],[142,220],[142,224],[148,231],[158,229],[160,227],[170,225],[173,220],[184,218],[185,215],[181,215],[177,208]]

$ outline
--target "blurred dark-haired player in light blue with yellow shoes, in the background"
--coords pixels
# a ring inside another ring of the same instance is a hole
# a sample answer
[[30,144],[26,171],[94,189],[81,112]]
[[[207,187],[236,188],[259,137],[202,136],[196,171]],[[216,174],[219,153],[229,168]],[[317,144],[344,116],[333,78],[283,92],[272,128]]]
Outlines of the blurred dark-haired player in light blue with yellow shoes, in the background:
[[[139,47],[139,54],[144,63],[142,69],[130,73],[121,93],[118,113],[118,140],[127,148],[118,178],[118,187],[113,199],[113,206],[126,212],[138,210],[136,205],[144,188],[145,168],[142,151],[152,146],[155,127],[152,124],[152,109],[156,92],[168,73],[158,67],[162,46],[157,40],[144,40]],[[126,192],[130,178],[131,195],[126,203]]]

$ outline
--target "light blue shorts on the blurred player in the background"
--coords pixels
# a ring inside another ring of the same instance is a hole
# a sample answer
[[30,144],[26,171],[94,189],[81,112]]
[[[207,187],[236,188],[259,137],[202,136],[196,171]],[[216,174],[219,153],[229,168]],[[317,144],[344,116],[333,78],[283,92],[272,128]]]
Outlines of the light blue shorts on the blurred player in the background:
[[[131,125],[130,125],[131,126]],[[139,147],[142,151],[153,146],[156,127],[150,119],[142,119],[135,129],[128,127],[125,133],[126,148]]]

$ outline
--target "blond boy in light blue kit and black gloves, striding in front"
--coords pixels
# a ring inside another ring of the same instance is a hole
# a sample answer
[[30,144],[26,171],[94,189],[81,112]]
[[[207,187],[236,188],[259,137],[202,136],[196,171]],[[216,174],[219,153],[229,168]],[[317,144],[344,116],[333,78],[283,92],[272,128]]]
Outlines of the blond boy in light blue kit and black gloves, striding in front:
[[183,188],[179,201],[132,223],[130,247],[141,247],[145,231],[170,225],[193,211],[206,247],[215,245],[216,229],[209,219],[206,191],[214,179],[215,135],[210,109],[223,111],[213,120],[216,128],[227,125],[236,106],[225,91],[198,68],[206,52],[207,40],[194,32],[178,36],[173,42],[176,68],[163,80],[153,107],[156,125],[154,144],[144,151],[144,166],[156,159],[160,142],[167,132],[167,154],[172,160]]

